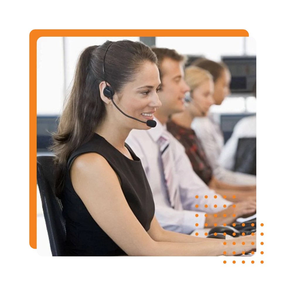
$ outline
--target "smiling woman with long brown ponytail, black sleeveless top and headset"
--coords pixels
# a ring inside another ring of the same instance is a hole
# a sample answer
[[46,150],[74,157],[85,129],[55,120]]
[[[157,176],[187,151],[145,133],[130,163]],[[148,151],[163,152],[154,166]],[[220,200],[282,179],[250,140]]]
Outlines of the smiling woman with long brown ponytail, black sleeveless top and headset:
[[256,248],[257,235],[223,247],[221,239],[166,231],[157,222],[142,163],[125,139],[132,129],[155,126],[160,85],[157,57],[142,42],[107,41],[81,53],[52,146],[65,257],[217,256]]

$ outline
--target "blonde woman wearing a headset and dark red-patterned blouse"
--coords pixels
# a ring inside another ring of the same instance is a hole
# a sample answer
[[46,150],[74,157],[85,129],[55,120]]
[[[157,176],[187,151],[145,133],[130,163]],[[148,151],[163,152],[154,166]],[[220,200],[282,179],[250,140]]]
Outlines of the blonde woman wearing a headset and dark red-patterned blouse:
[[256,199],[255,186],[230,185],[213,176],[212,167],[200,139],[191,128],[193,119],[206,116],[210,106],[214,103],[212,75],[199,67],[189,66],[185,69],[185,81],[191,89],[190,94],[186,97],[186,108],[183,112],[172,115],[171,120],[167,123],[168,131],[185,147],[193,170],[210,188],[221,195],[226,195],[231,200],[235,194],[237,194],[237,201],[247,197]]

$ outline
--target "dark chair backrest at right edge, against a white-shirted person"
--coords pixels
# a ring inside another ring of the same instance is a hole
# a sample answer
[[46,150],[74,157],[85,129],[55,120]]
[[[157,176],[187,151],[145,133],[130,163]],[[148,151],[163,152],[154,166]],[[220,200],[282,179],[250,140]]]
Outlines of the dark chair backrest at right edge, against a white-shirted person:
[[258,175],[258,137],[238,140],[234,171]]

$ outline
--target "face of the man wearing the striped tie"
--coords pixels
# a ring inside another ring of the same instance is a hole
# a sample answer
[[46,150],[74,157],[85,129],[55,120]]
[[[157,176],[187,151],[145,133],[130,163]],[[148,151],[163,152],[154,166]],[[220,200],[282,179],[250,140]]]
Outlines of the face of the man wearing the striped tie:
[[184,97],[190,88],[184,81],[183,64],[179,61],[170,58],[163,59],[161,72],[162,87],[158,95],[162,106],[157,111],[160,115],[169,117],[185,109]]

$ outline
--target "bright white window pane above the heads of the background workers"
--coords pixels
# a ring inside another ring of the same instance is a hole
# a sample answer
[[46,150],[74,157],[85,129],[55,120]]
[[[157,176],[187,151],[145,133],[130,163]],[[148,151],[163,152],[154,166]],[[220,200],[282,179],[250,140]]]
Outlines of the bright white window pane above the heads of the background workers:
[[203,55],[220,61],[222,55],[243,55],[243,37],[156,37],[157,47],[175,49],[180,54]]

